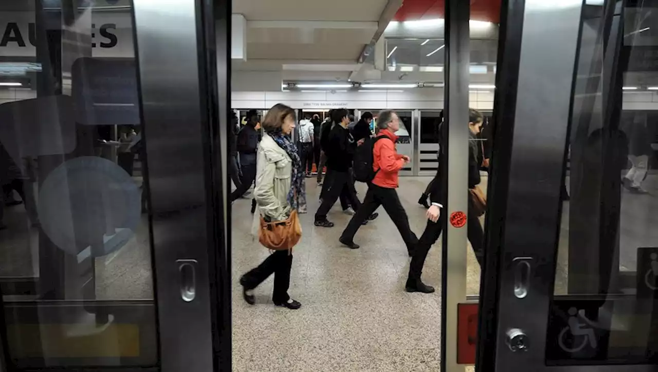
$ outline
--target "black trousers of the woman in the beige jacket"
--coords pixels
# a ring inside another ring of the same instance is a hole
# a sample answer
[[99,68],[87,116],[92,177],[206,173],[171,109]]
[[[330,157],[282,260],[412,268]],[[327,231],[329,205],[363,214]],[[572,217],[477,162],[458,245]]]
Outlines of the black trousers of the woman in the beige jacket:
[[274,274],[272,300],[274,302],[287,302],[290,300],[288,288],[290,288],[291,267],[292,253],[288,250],[276,251],[270,254],[261,265],[251,269],[243,276],[245,288],[256,288],[270,275]]

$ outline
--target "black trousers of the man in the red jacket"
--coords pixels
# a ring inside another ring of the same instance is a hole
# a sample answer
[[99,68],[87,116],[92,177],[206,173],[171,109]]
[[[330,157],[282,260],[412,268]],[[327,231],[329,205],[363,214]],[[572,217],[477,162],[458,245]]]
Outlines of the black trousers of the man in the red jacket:
[[365,199],[363,199],[363,204],[347,224],[341,239],[347,242],[353,241],[363,221],[372,215],[380,205],[384,207],[388,217],[393,220],[395,227],[402,236],[402,240],[407,245],[407,251],[413,252],[418,243],[418,238],[409,227],[409,217],[407,217],[407,212],[400,203],[397,192],[394,188],[383,188],[374,184],[368,185],[368,192]]

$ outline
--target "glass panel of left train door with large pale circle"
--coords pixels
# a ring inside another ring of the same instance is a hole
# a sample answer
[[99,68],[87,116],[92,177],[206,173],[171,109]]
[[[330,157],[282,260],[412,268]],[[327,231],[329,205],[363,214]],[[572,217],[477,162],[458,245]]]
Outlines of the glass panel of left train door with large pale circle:
[[[64,17],[41,3],[0,10],[24,25],[17,38],[30,35],[24,47],[16,38],[3,45],[12,62],[0,66],[5,360],[11,370],[153,366],[130,7],[80,7]],[[116,23],[105,22],[108,14]]]

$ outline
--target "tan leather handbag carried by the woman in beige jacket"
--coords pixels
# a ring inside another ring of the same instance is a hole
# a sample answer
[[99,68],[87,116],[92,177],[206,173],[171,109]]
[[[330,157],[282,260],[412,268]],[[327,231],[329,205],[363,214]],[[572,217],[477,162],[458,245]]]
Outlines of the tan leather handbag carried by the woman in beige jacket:
[[301,225],[297,211],[292,211],[284,221],[266,222],[261,215],[261,228],[258,240],[270,250],[290,250],[301,239]]

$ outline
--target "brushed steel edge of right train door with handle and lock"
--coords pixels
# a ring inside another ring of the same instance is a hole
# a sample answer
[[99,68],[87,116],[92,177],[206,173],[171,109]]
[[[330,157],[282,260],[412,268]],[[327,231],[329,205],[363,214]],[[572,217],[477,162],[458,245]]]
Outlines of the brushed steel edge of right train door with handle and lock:
[[[581,13],[586,6],[580,0],[559,5],[542,0],[503,1],[485,230],[488,280],[480,287],[476,371],[492,371],[492,365],[493,371],[654,371],[655,365],[545,363],[549,305],[555,297],[560,188],[574,117]],[[554,22],[545,22],[542,16]],[[560,58],[551,58],[555,55]],[[614,94],[607,91],[609,86],[603,82],[604,105]],[[500,87],[505,90],[501,92]],[[516,296],[515,267],[526,263],[531,270],[528,292]],[[515,331],[528,336],[526,350],[513,352],[506,344]]]

